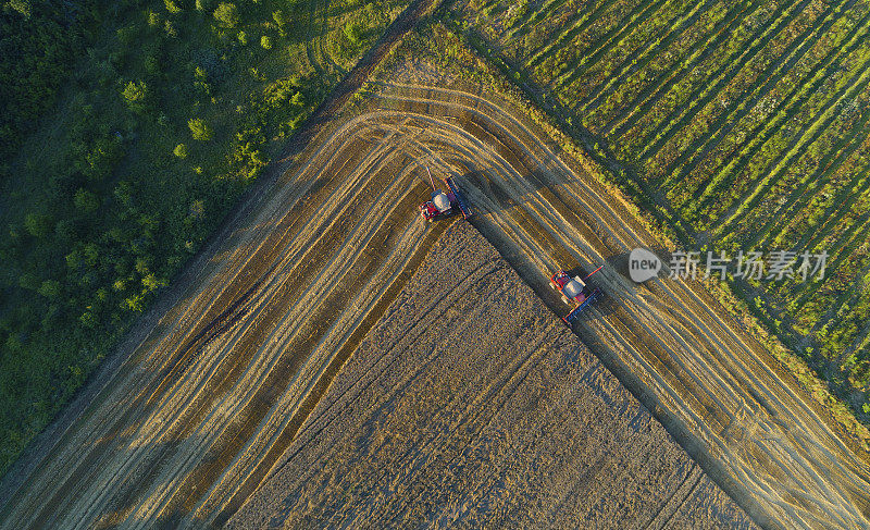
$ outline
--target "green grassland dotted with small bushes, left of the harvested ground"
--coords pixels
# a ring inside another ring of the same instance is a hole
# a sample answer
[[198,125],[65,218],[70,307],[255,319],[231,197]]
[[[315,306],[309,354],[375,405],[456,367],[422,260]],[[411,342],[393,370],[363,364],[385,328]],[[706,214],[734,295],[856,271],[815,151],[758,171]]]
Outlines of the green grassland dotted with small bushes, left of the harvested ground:
[[100,7],[59,97],[34,96],[49,111],[2,161],[0,472],[401,8]]

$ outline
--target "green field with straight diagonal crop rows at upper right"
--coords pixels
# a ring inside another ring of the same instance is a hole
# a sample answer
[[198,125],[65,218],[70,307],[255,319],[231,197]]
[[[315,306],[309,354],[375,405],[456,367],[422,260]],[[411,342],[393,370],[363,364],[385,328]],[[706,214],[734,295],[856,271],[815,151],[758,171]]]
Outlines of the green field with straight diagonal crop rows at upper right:
[[823,280],[731,286],[870,418],[870,3],[459,0],[446,16],[686,249],[828,252]]

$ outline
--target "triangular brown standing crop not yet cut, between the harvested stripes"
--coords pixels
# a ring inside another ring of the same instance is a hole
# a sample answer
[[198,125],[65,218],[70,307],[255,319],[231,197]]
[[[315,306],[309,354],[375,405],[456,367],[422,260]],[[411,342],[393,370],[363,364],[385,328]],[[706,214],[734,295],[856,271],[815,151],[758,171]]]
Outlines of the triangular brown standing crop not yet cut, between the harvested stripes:
[[471,225],[228,528],[757,528]]

